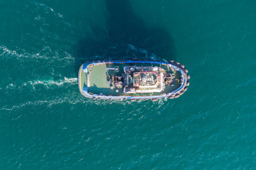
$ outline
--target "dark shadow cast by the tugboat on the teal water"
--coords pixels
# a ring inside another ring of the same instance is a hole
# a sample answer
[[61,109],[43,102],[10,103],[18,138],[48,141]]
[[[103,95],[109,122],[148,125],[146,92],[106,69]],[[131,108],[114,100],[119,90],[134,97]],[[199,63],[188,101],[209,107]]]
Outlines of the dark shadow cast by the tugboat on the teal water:
[[128,0],[105,0],[105,4],[107,32],[100,27],[92,28],[92,37],[78,41],[76,70],[87,60],[175,60],[174,43],[169,33],[162,28],[147,28],[133,13]]

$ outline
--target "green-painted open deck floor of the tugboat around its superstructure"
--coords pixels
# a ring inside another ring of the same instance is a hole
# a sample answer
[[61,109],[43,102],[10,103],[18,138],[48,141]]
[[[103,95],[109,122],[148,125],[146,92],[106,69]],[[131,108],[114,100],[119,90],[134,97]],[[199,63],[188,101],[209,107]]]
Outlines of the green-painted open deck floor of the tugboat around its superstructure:
[[[90,87],[88,87],[88,92],[91,92],[93,94],[100,94],[103,95],[112,95],[112,96],[152,96],[152,95],[161,95],[163,93],[168,93],[176,90],[177,87],[177,81],[174,81],[174,86],[166,85],[165,89],[161,92],[154,92],[154,93],[124,93],[123,87],[115,87],[114,84],[108,84],[107,81],[109,80],[108,75],[111,77],[112,74],[114,75],[121,75],[123,73],[123,67],[128,65],[136,65],[136,66],[160,66],[166,70],[167,73],[173,73],[172,69],[168,67],[167,65],[159,65],[159,64],[151,64],[151,63],[143,63],[143,64],[128,64],[128,63],[113,63],[113,64],[101,64],[101,65],[95,65],[92,67],[88,67],[88,70],[90,71]],[[109,67],[115,67],[119,66],[119,71],[115,72],[114,70],[105,70],[104,68]],[[175,71],[176,73],[176,71]],[[83,87],[87,86],[87,73],[84,73],[81,71],[80,74],[80,85],[83,89]],[[113,86],[113,89],[111,89],[111,86]],[[116,92],[116,90],[119,90],[119,92]]]

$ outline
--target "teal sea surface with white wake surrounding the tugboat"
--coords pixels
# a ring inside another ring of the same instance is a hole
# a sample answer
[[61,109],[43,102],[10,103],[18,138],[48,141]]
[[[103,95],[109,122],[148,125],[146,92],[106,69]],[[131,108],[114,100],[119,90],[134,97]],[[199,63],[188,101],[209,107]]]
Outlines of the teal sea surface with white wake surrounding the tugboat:
[[[177,99],[90,100],[87,60],[175,60]],[[0,0],[0,170],[256,170],[255,0]]]

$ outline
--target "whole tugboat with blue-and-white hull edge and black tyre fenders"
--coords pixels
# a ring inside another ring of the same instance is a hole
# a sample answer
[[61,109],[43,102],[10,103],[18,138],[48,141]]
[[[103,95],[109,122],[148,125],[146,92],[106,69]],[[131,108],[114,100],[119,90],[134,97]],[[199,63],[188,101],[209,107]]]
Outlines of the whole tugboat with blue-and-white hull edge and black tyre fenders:
[[86,62],[78,73],[79,91],[93,100],[177,98],[187,91],[189,74],[179,62],[103,60]]

